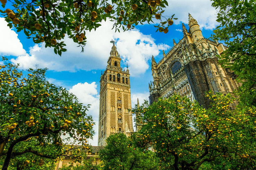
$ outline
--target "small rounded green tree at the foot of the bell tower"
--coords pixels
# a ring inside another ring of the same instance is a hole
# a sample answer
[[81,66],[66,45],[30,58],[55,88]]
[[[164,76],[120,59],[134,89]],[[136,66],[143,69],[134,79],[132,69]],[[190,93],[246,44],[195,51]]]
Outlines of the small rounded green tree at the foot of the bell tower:
[[111,134],[107,146],[102,149],[99,158],[102,160],[102,170],[155,170],[158,159],[151,151],[141,151],[135,148],[131,138],[123,133]]

